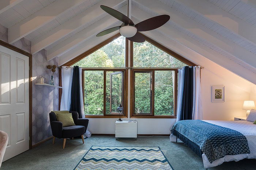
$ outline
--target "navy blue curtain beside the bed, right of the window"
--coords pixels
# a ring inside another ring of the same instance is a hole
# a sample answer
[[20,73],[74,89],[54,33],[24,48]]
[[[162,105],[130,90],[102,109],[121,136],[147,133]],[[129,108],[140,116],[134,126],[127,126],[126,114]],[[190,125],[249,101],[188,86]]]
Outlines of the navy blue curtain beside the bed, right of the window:
[[180,120],[191,120],[193,115],[192,111],[193,111],[193,67],[185,66]]

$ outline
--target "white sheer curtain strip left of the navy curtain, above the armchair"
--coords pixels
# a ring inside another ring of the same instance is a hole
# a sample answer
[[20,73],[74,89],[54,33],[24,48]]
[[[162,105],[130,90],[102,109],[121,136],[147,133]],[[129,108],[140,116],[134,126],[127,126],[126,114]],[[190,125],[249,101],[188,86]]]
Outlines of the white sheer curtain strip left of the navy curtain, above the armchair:
[[71,103],[71,84],[72,84],[73,69],[62,66],[61,80],[62,80],[62,95],[60,110],[69,110]]

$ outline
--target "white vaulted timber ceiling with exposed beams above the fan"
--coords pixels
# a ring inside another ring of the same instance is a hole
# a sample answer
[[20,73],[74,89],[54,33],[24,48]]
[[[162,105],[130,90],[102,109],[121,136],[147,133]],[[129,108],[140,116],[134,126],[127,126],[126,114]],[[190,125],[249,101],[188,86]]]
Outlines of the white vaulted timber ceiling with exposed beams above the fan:
[[[255,0],[130,3],[130,17],[135,23],[161,14],[171,16],[168,23],[144,32],[146,35],[165,46],[163,39],[175,41],[256,83]],[[31,41],[32,54],[45,49],[47,60],[59,57],[62,65],[116,33],[95,36],[121,24],[100,5],[127,13],[126,0],[1,0],[0,24],[8,28],[8,43],[24,37]],[[182,55],[182,50],[177,52]]]

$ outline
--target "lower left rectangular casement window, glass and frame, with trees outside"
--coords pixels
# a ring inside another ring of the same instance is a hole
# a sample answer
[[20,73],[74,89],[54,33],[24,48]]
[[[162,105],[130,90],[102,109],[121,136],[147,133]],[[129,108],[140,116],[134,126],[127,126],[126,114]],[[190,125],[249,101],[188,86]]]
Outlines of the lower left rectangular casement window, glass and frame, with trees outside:
[[[117,107],[126,107],[124,68],[83,68],[84,112],[87,117],[119,116]],[[121,116],[126,115],[123,110]]]

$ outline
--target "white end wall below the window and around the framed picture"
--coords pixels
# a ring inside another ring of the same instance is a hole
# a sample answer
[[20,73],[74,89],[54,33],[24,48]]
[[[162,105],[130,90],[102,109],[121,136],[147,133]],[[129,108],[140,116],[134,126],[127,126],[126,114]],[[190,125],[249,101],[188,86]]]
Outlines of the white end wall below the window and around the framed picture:
[[[182,56],[186,56],[187,59],[199,66],[204,67],[204,69],[201,70],[203,119],[234,120],[234,116],[245,116],[246,111],[242,110],[242,105],[244,100],[252,99],[253,96],[256,98],[256,95],[250,95],[251,91],[254,91],[256,94],[255,84],[181,45],[178,41],[167,39],[162,34],[152,31],[146,32],[146,35],[158,40],[159,43],[164,44],[166,47],[176,51]],[[212,103],[212,85],[220,84],[225,86],[225,102]],[[113,118],[90,118],[88,128],[94,134],[114,134],[114,123],[116,120],[117,119]],[[176,119],[140,118],[136,120],[138,121],[138,134],[170,134],[170,128],[176,122]]]

